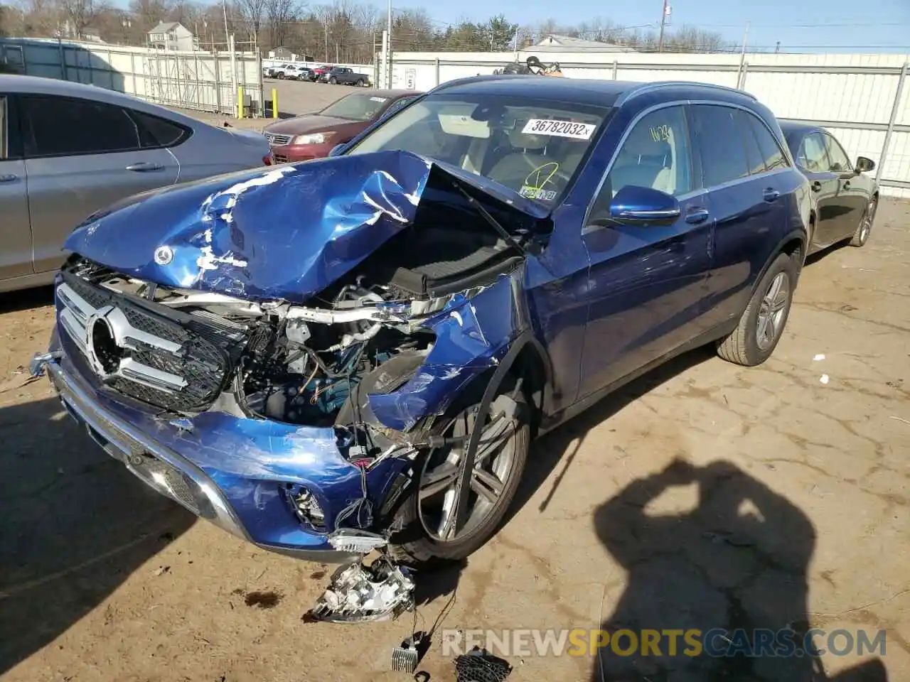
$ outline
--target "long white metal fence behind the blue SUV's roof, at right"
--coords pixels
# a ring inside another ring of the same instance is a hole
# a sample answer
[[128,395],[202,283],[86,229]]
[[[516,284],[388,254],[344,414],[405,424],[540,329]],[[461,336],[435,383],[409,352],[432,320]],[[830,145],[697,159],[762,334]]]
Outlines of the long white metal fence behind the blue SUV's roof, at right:
[[[521,52],[523,60],[532,52]],[[739,87],[780,118],[828,128],[855,158],[875,160],[882,194],[910,197],[910,55],[539,55],[569,78],[684,80]],[[392,86],[429,90],[491,74],[510,53],[396,53]],[[384,73],[385,65],[380,68]],[[380,77],[381,80],[381,77]]]

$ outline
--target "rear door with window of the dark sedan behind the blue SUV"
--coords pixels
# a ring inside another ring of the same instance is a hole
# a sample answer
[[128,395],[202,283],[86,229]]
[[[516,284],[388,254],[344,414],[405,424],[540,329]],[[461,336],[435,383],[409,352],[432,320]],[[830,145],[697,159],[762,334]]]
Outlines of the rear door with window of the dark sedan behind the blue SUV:
[[796,165],[809,178],[815,195],[815,231],[812,241],[816,246],[829,246],[841,232],[844,214],[850,209],[839,196],[840,178],[831,171],[824,135],[814,131],[804,135],[796,150]]

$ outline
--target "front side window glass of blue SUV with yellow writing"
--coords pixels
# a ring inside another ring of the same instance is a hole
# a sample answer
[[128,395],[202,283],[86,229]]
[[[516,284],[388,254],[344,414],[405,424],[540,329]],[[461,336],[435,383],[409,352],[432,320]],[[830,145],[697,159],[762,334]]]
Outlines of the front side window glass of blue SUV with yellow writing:
[[693,190],[692,152],[682,106],[652,111],[632,128],[602,191],[609,191],[612,198],[627,185],[651,187],[673,196]]

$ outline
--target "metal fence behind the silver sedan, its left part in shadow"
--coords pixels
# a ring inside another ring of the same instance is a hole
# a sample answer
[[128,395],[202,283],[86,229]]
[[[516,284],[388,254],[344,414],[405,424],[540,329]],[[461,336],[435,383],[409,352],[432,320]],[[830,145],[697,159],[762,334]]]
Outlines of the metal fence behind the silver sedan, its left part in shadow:
[[0,39],[0,57],[26,75],[99,85],[160,105],[237,112],[238,88],[262,111],[262,69],[249,52],[166,52],[145,47],[40,38]]

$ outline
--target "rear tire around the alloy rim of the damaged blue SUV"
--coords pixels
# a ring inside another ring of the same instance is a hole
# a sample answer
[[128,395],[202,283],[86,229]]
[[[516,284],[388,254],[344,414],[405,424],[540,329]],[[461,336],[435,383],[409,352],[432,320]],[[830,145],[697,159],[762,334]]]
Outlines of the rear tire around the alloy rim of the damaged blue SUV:
[[[761,365],[767,360],[784,333],[798,277],[799,268],[796,259],[786,254],[777,256],[771,267],[764,273],[762,281],[755,287],[752,298],[749,299],[749,305],[745,306],[743,315],[740,317],[739,324],[733,332],[717,342],[717,355],[728,362],[747,367]],[[786,286],[786,290],[777,289],[770,305],[771,310],[769,310],[766,296],[772,295],[773,285]],[[768,322],[765,322],[760,329],[760,317],[772,321],[772,328],[769,329]],[[763,334],[762,331],[764,331]],[[759,340],[760,334],[761,341]]]

